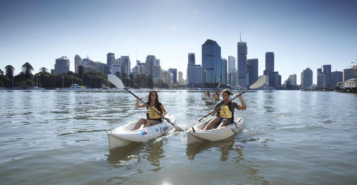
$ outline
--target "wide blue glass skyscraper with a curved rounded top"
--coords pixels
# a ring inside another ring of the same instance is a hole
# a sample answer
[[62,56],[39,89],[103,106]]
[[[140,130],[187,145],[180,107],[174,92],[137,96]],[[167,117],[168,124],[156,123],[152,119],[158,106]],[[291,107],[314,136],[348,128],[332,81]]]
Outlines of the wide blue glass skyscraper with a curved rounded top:
[[221,79],[221,47],[216,41],[207,39],[202,44],[202,66],[206,70],[206,83],[215,83]]

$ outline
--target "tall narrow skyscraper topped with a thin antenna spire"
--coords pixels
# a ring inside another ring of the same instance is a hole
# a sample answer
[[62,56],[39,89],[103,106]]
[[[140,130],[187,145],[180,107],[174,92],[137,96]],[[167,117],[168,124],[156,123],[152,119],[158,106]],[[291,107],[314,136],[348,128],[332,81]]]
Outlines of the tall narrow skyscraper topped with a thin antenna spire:
[[237,86],[246,86],[247,54],[247,43],[240,39],[237,43]]

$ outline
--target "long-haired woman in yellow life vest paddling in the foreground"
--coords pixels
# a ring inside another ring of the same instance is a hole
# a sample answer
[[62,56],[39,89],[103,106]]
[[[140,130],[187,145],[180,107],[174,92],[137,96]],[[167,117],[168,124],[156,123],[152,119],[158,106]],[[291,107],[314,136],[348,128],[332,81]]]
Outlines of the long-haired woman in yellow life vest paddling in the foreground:
[[[146,107],[145,104],[139,105],[140,100],[141,100],[141,97],[137,97],[135,109]],[[140,126],[143,124],[144,124],[144,128],[145,128],[145,127],[150,127],[152,125],[156,125],[157,123],[161,123],[163,121],[163,118],[167,114],[164,106],[159,102],[159,95],[157,95],[157,92],[154,90],[150,91],[149,98],[148,98],[148,101],[146,102],[146,104],[150,105],[150,107],[151,107],[151,108],[146,107],[146,109],[147,109],[146,119],[141,118],[136,123],[136,125],[134,126],[132,131],[139,129]],[[152,109],[155,109],[157,112],[160,112],[161,115],[157,114]]]

